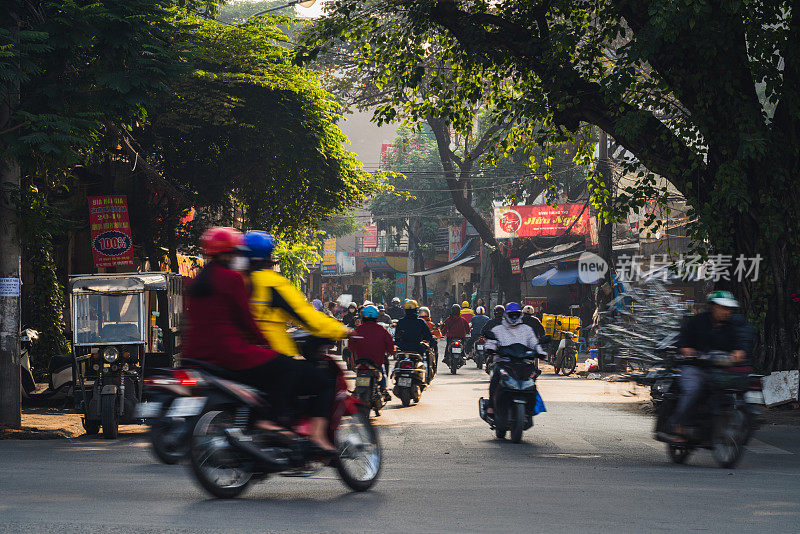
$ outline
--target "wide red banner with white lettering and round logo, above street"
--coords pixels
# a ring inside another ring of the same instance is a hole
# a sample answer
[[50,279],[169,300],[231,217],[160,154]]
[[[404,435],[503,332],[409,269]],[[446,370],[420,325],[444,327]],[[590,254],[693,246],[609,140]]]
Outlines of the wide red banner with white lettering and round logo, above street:
[[570,235],[587,235],[589,209],[584,209],[584,206],[585,204],[559,204],[556,207],[546,204],[500,206],[494,209],[494,235],[498,239],[558,236],[567,232],[567,228]]

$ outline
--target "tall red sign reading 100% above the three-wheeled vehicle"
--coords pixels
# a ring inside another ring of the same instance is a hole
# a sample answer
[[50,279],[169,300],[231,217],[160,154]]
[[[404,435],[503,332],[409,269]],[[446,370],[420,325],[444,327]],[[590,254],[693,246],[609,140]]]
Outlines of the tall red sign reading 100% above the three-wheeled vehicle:
[[89,197],[95,267],[133,265],[133,240],[125,195]]

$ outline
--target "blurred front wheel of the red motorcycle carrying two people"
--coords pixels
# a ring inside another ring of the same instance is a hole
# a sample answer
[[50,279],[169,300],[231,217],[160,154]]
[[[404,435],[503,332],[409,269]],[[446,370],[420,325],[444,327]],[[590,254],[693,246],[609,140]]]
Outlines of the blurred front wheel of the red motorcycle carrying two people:
[[340,451],[336,471],[342,482],[353,491],[366,491],[375,485],[382,455],[378,433],[369,418],[362,414],[342,418],[334,442]]

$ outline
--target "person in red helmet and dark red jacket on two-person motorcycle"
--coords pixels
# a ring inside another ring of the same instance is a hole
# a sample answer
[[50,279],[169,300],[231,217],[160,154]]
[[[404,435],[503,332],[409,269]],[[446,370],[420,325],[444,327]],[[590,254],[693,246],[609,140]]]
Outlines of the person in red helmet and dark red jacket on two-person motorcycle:
[[[183,354],[234,371],[244,383],[273,393],[273,405],[282,418],[290,413],[289,399],[311,396],[314,423],[309,438],[320,451],[335,452],[325,432],[333,402],[325,376],[309,362],[266,348],[268,341],[252,315],[245,278],[232,269],[237,264],[240,270],[246,268],[244,236],[234,228],[215,227],[203,233],[200,246],[209,261],[186,293]],[[258,426],[285,430],[267,420]]]

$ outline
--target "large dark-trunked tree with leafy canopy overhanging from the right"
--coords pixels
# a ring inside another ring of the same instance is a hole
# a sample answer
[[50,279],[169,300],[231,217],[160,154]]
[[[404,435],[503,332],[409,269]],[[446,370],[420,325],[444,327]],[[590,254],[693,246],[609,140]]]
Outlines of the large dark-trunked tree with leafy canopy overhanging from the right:
[[[763,367],[796,367],[798,310],[789,299],[800,285],[796,6],[337,0],[331,8],[330,28],[364,34],[380,26],[367,12],[389,10],[397,22],[375,34],[384,48],[418,51],[421,43],[442,39],[463,83],[437,95],[431,108],[483,98],[470,82],[480,75],[493,80],[493,111],[546,125],[536,133],[542,142],[568,137],[583,123],[607,132],[629,153],[625,168],[641,173],[637,186],[607,207],[607,218],[658,195],[651,173],[667,178],[692,207],[698,245],[734,258],[763,258],[758,280],[729,285],[760,326]],[[602,183],[596,174],[590,182]],[[593,191],[602,206],[607,191]]]

